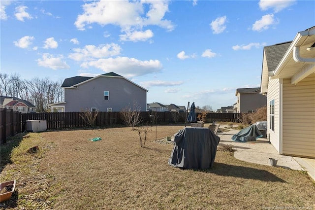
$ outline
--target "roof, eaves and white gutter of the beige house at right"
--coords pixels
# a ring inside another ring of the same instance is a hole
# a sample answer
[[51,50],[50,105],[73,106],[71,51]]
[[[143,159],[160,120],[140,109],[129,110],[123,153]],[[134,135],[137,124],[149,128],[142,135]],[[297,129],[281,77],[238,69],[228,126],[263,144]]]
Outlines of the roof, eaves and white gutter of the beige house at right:
[[297,84],[315,72],[315,53],[308,48],[315,43],[315,26],[298,32],[293,41],[264,47],[261,93],[267,93],[269,79],[290,78]]

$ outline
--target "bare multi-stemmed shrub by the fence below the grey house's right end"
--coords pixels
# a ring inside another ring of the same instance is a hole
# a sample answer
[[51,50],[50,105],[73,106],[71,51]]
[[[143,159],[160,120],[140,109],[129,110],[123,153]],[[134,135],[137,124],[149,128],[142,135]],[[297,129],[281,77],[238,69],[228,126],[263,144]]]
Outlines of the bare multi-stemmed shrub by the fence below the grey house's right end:
[[135,101],[133,101],[133,105],[126,106],[120,111],[120,114],[123,119],[123,123],[131,127],[132,130],[135,130],[135,127],[142,122],[142,117],[140,116],[141,106],[137,105]]

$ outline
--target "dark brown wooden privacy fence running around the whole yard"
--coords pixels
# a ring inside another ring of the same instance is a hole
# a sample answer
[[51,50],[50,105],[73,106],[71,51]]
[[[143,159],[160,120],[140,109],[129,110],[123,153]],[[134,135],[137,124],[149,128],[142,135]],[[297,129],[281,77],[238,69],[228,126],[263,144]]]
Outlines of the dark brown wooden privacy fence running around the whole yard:
[[[140,112],[143,123],[149,123],[150,114],[156,114],[158,124],[174,123],[174,113],[172,112]],[[186,112],[178,112],[177,122],[185,123],[187,118]],[[1,143],[9,136],[16,133],[27,131],[27,120],[46,120],[47,130],[64,129],[71,127],[86,127],[88,123],[82,118],[82,112],[45,112],[45,113],[25,113],[1,108]],[[198,113],[197,113],[198,115]],[[220,122],[240,122],[240,113],[207,113],[204,121],[211,123]],[[113,126],[123,124],[120,112],[98,112],[95,120],[95,126]]]

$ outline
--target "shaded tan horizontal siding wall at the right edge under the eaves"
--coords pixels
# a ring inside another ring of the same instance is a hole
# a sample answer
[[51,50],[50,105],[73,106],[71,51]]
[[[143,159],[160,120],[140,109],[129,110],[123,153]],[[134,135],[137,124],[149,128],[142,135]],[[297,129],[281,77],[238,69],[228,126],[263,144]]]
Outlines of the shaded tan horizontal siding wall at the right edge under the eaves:
[[315,74],[283,87],[283,154],[315,158]]

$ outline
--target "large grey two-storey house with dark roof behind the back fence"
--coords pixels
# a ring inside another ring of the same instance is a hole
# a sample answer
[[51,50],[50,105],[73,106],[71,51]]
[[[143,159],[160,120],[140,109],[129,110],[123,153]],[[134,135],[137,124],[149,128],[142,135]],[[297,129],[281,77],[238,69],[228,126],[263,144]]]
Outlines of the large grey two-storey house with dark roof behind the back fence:
[[[137,105],[140,111],[147,109],[145,88],[114,73],[95,77],[74,76],[63,81],[64,102],[50,104],[52,112],[57,111],[121,111]],[[58,110],[59,109],[59,110]]]

